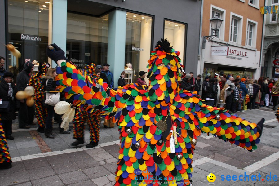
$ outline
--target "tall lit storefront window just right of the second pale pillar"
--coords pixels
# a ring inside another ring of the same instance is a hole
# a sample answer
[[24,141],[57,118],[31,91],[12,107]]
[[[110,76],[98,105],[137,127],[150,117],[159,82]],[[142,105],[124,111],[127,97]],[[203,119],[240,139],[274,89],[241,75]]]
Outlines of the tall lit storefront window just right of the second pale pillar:
[[151,51],[152,21],[152,17],[127,12],[125,69],[132,68],[130,82],[136,82],[139,71],[147,72],[147,60]]

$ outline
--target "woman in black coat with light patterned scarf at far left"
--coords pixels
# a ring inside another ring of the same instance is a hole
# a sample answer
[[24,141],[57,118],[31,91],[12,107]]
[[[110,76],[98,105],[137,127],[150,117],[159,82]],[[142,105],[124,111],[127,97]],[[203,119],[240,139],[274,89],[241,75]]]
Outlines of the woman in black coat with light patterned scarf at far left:
[[3,123],[3,129],[6,139],[13,140],[12,121],[15,119],[16,104],[19,108],[19,102],[15,99],[17,88],[14,83],[14,74],[5,72],[3,80],[0,83],[0,117]]

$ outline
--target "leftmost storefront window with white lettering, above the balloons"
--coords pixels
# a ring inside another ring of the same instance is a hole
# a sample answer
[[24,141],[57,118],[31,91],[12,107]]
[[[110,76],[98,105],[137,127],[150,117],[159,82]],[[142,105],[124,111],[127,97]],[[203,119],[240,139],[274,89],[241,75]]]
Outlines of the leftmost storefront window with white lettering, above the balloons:
[[[8,51],[9,71],[17,74],[23,69],[25,61],[47,62],[48,7],[43,0],[8,0],[8,43],[21,53],[16,61]],[[35,70],[37,68],[35,65]]]

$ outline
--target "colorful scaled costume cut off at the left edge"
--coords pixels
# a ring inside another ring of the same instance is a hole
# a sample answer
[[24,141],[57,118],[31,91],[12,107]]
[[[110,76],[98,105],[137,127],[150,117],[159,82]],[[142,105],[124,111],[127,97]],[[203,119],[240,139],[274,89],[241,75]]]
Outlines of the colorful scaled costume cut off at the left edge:
[[2,122],[0,119],[0,169],[11,168],[12,161],[9,152],[9,147],[3,130]]

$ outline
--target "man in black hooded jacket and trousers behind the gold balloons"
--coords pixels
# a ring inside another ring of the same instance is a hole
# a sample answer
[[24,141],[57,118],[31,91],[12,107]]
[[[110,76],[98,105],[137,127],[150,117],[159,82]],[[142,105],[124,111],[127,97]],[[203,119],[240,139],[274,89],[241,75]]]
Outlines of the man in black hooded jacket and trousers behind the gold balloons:
[[[24,91],[29,84],[30,73],[34,69],[34,64],[30,61],[26,62],[23,66],[23,70],[18,73],[16,77],[16,88],[18,91]],[[35,107],[28,107],[26,100],[20,100],[20,109],[18,111],[18,126],[19,128],[29,129],[29,125],[35,125],[33,123],[35,114]]]

